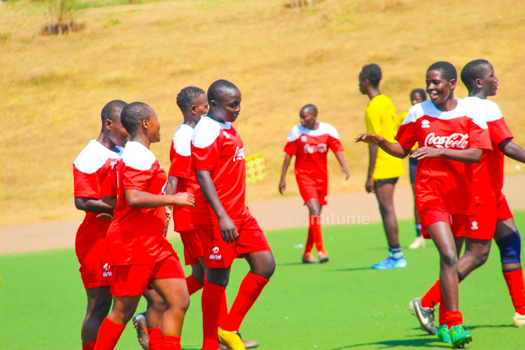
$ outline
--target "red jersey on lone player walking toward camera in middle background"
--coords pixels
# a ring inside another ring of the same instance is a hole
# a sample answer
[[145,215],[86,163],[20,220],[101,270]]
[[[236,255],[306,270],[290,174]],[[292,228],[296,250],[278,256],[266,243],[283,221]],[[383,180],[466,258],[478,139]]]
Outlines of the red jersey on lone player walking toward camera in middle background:
[[330,124],[319,123],[317,130],[295,125],[290,130],[284,151],[288,155],[295,155],[295,176],[299,186],[328,183],[328,148],[333,153],[344,151],[337,130]]

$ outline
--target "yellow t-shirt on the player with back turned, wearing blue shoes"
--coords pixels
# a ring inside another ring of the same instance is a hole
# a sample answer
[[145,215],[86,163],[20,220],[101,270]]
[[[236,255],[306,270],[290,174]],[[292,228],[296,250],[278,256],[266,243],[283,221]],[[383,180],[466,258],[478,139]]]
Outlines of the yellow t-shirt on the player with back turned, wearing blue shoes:
[[[386,141],[395,141],[398,133],[399,122],[395,107],[388,97],[379,94],[370,100],[365,110],[366,132],[384,137]],[[399,177],[405,174],[402,159],[393,157],[381,148],[377,148],[375,161],[374,180],[384,180]]]

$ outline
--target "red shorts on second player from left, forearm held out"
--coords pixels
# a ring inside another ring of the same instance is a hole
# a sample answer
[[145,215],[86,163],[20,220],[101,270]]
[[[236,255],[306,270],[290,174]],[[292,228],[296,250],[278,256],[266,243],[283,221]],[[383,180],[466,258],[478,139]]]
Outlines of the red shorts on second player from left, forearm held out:
[[116,297],[141,295],[151,289],[151,279],[186,279],[176,254],[152,265],[113,265],[111,294]]

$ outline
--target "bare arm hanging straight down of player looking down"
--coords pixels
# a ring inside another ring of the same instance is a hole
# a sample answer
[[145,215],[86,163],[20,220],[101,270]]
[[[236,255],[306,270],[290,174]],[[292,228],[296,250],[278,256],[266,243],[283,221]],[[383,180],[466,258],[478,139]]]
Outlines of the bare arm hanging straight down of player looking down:
[[207,170],[197,169],[197,181],[199,181],[204,198],[206,198],[209,206],[214,210],[214,213],[217,216],[219,230],[221,230],[221,235],[223,235],[223,241],[228,244],[233,243],[234,241],[237,242],[237,238],[239,237],[237,228],[230,216],[228,216],[228,213],[226,213],[221,200],[218,198],[217,189],[215,188],[214,181],[211,181],[210,173]]

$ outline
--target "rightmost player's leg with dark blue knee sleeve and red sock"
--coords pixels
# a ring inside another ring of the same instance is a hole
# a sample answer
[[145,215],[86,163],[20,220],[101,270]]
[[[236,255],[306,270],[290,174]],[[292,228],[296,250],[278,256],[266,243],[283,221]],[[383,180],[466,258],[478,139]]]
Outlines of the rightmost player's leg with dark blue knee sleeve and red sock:
[[525,281],[521,268],[521,237],[514,218],[505,218],[496,223],[494,239],[500,250],[503,276],[514,305],[514,326],[525,327]]

